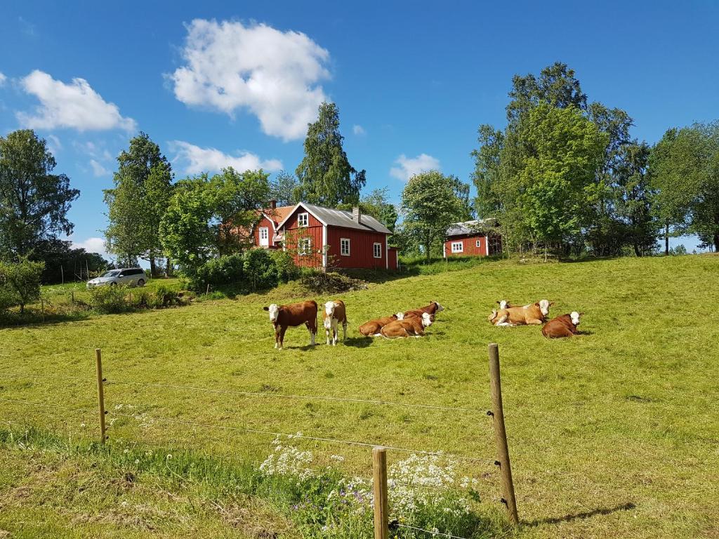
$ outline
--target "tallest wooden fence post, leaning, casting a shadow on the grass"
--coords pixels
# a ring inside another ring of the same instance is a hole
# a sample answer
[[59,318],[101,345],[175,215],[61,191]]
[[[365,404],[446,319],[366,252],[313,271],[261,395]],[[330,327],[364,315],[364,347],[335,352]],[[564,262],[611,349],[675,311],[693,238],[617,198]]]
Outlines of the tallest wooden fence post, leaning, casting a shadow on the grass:
[[514,484],[512,482],[512,467],[509,464],[509,446],[507,445],[507,430],[504,425],[504,410],[502,407],[502,384],[499,370],[499,346],[489,345],[490,354],[490,392],[492,393],[492,416],[497,439],[497,461],[502,476],[502,502],[507,506],[509,520],[517,525],[517,500],[514,497]]

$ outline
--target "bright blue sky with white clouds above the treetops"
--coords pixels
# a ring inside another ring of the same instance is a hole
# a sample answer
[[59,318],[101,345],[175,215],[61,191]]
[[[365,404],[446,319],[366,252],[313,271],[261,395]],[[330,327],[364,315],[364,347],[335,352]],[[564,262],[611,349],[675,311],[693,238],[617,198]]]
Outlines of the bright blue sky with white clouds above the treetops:
[[47,140],[81,190],[70,239],[104,252],[102,190],[140,131],[176,178],[292,172],[318,104],[334,101],[365,189],[396,202],[421,170],[470,183],[477,127],[505,124],[512,76],[555,61],[650,144],[719,118],[719,1],[492,4],[4,1],[0,136]]

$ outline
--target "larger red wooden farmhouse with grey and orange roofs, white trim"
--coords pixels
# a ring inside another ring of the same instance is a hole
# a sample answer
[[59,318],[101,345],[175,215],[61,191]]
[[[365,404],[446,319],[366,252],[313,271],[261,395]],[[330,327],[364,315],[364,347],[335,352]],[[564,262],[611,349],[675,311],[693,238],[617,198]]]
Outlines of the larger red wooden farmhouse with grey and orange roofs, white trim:
[[268,249],[288,249],[298,266],[396,270],[397,249],[389,247],[392,233],[372,216],[299,203],[270,207],[260,214],[253,243]]

